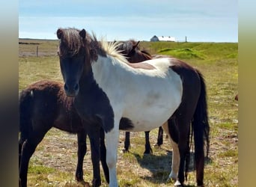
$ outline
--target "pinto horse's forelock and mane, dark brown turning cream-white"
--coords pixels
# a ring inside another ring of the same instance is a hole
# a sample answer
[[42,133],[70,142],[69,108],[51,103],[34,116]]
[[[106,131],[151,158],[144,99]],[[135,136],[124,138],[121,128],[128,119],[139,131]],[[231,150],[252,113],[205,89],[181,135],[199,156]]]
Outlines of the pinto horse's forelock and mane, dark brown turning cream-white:
[[109,43],[103,38],[98,41],[96,35],[93,33],[91,36],[86,32],[85,38],[82,38],[76,28],[59,28],[57,35],[61,33],[59,55],[74,56],[84,54],[87,60],[93,62],[97,61],[97,55],[106,57],[110,55],[118,58],[119,61],[127,63],[127,59],[121,54],[118,46],[120,43]]

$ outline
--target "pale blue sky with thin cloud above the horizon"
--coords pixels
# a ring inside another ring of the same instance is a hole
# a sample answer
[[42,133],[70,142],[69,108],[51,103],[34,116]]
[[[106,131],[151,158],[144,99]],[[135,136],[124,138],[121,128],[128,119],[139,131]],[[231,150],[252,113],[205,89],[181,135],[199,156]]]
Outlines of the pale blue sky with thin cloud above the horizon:
[[156,35],[238,42],[238,1],[19,1],[20,38],[57,39],[57,29],[67,27],[85,28],[107,40],[150,40]]

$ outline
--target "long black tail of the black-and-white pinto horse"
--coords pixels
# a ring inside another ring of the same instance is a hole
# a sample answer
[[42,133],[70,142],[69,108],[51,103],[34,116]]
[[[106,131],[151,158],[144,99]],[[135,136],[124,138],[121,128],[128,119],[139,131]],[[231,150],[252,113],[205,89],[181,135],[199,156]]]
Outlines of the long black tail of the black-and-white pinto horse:
[[208,122],[207,113],[207,91],[204,82],[204,77],[197,70],[198,76],[201,81],[201,93],[198,98],[198,104],[195,108],[195,113],[192,119],[192,131],[194,132],[195,143],[195,168],[197,171],[198,185],[202,185],[204,179],[204,147],[209,153],[210,140],[209,132],[210,126]]

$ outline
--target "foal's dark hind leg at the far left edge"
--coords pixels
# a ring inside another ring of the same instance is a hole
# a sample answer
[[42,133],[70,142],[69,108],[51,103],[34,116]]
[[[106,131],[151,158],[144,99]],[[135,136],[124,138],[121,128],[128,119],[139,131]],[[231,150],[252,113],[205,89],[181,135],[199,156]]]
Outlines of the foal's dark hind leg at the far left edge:
[[33,135],[29,135],[29,137],[22,144],[20,166],[19,166],[19,186],[20,187],[27,186],[29,160],[33,155],[37,145],[40,143],[40,141],[43,140],[43,137],[47,131],[48,129],[44,130],[43,132],[34,132]]

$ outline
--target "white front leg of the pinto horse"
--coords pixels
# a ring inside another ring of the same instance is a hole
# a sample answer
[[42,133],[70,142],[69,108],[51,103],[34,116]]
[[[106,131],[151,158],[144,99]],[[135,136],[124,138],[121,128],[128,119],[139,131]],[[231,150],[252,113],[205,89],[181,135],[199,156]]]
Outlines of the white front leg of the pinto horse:
[[[117,121],[117,120],[115,120]],[[109,187],[118,187],[117,179],[117,158],[118,158],[118,138],[119,138],[119,129],[116,128],[119,126],[118,123],[115,124],[114,129],[109,132],[106,132],[106,162],[109,167]]]

